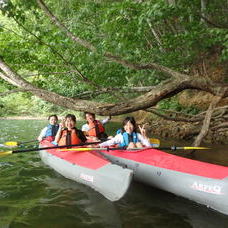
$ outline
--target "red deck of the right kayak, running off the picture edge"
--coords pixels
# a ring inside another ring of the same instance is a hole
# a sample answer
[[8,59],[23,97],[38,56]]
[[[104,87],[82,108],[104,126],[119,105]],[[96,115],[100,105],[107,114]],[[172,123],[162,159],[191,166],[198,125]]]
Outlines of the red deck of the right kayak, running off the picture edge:
[[157,149],[148,148],[138,151],[110,150],[108,152],[102,152],[135,161],[137,163],[143,163],[202,177],[213,179],[223,179],[228,177],[228,167],[183,158]]

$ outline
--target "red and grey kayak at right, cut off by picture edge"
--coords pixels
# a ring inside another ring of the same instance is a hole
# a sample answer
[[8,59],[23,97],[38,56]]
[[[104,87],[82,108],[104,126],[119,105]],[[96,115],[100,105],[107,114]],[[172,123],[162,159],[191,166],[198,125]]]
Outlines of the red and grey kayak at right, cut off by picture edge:
[[133,170],[140,182],[228,215],[228,167],[150,148],[101,152],[113,163]]

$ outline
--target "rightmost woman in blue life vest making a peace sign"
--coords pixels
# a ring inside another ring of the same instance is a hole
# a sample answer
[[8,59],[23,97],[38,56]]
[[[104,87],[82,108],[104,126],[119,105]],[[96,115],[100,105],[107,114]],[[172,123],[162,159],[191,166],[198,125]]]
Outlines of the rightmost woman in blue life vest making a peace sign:
[[137,125],[134,117],[126,117],[123,121],[123,128],[118,131],[118,134],[103,143],[100,143],[100,147],[107,147],[112,145],[118,145],[127,149],[141,148],[143,146],[150,147],[151,144],[146,136],[146,131],[143,127],[139,128],[141,133],[137,132]]

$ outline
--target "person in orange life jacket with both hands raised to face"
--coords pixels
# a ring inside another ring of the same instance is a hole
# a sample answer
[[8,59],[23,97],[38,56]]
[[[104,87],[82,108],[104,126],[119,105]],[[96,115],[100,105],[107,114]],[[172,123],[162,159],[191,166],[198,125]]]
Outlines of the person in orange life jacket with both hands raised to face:
[[71,144],[80,144],[86,142],[86,137],[83,132],[76,127],[75,115],[68,114],[60,123],[59,130],[56,134],[55,145],[65,146]]

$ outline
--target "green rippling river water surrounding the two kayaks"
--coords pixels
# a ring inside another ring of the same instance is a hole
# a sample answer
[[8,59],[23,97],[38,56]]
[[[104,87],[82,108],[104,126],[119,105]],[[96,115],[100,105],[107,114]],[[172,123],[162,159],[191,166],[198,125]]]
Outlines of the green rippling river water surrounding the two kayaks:
[[[0,143],[35,139],[45,125],[42,120],[0,120]],[[113,134],[117,125],[108,124],[108,132]],[[214,145],[195,156],[228,165],[226,148]],[[225,228],[228,216],[137,182],[113,203],[44,165],[37,152],[28,152],[0,157],[0,228],[8,227]]]

